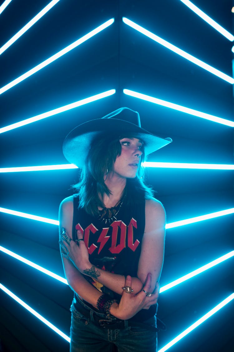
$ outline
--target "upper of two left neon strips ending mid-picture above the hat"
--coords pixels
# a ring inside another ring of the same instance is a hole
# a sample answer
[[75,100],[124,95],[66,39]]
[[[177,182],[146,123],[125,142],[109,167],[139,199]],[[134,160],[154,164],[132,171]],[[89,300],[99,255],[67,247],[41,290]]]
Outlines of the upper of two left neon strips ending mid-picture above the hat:
[[78,45],[86,42],[86,40],[88,40],[91,37],[95,36],[95,34],[103,31],[104,29],[109,27],[112,23],[114,23],[114,18],[106,21],[105,23],[103,23],[99,27],[95,28],[93,31],[87,33],[86,35],[84,35],[80,39],[76,40],[74,43],[72,43],[72,44],[66,46],[66,48],[58,51],[55,55],[49,57],[48,59],[46,59],[45,61],[41,62],[39,65],[37,65],[34,68],[32,68],[31,70],[27,71],[23,75],[19,76],[18,78],[15,78],[15,80],[13,80],[12,82],[6,84],[6,86],[0,88],[0,94],[6,92],[6,90],[14,87],[16,84],[22,82],[23,80],[25,80],[26,78],[30,77],[31,75],[33,75],[37,71],[41,70],[45,66],[49,65],[51,62],[57,60],[59,57],[63,56],[64,54],[67,54],[67,52],[69,52],[70,50],[76,48]]

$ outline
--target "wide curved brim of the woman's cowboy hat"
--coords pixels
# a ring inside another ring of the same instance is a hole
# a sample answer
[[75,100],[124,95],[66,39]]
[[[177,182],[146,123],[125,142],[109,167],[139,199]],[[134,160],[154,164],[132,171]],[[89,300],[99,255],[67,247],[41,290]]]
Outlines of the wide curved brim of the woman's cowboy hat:
[[119,134],[123,137],[141,139],[145,155],[164,147],[172,142],[171,138],[161,138],[144,130],[131,122],[119,119],[95,119],[75,127],[65,138],[63,154],[71,163],[83,168],[91,143],[99,135],[105,133]]

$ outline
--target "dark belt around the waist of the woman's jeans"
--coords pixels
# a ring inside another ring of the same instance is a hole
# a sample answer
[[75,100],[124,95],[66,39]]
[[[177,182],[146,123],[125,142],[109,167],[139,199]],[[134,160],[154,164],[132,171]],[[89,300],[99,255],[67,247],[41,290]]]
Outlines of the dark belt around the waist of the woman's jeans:
[[[89,308],[85,308],[80,304],[77,300],[75,303],[75,307],[80,312],[85,318],[89,319],[90,318],[90,310]],[[93,323],[97,326],[101,326],[102,328],[107,328],[107,329],[125,329],[125,320],[107,320],[101,318],[99,315],[97,315],[95,312],[93,313]],[[156,328],[153,325],[148,325],[144,324],[138,321],[132,321],[132,320],[127,320],[128,326],[138,326],[138,327],[143,327],[147,330],[157,332],[159,331],[158,328]]]

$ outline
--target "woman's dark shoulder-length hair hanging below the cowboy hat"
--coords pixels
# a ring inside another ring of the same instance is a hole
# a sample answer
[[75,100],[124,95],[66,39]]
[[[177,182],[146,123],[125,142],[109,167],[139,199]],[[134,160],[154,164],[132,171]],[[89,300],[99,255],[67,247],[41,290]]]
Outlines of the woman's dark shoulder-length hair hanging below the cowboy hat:
[[[101,196],[104,193],[111,194],[105,184],[104,176],[107,174],[107,170],[108,172],[113,170],[116,158],[121,155],[120,139],[122,138],[124,137],[113,136],[111,133],[108,137],[103,135],[95,139],[90,146],[85,166],[81,171],[80,182],[72,186],[80,198],[79,207],[84,208],[90,215],[96,215],[98,207],[105,208],[99,194]],[[142,148],[140,163],[145,160],[144,145]],[[139,168],[135,178],[127,178],[125,194],[129,206],[153,197],[152,189],[144,183],[143,166]]]

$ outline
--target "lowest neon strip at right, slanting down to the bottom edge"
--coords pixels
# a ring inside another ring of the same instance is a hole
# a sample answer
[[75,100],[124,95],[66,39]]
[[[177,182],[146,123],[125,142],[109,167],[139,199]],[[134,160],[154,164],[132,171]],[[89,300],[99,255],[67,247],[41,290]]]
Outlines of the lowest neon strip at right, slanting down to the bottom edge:
[[181,340],[183,337],[188,335],[192,330],[194,330],[196,327],[201,325],[205,320],[210,318],[213,314],[217,313],[221,308],[226,306],[229,302],[231,302],[234,298],[234,293],[232,293],[230,296],[228,296],[225,300],[220,302],[216,307],[211,309],[207,314],[203,315],[200,319],[198,319],[195,323],[190,325],[187,329],[185,329],[181,334],[179,334],[176,338],[171,340],[168,344],[166,344],[163,348],[161,348],[158,352],[165,352],[170,348],[171,346],[175,345],[176,342]]

